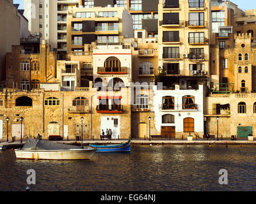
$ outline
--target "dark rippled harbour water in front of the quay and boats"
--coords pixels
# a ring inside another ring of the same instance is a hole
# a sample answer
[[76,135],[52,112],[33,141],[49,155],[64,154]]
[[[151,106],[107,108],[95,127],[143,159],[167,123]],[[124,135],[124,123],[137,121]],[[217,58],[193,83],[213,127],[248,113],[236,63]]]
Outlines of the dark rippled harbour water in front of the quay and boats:
[[[17,160],[0,152],[0,191],[256,191],[256,148],[132,146],[131,153],[95,153],[90,161]],[[228,185],[218,184],[220,169]]]

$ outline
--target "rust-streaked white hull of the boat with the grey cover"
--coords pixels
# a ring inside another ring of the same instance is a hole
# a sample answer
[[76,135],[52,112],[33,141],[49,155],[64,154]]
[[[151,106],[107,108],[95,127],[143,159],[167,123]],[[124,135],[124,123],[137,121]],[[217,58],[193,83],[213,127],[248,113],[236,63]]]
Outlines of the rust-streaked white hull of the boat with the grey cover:
[[17,159],[52,159],[52,160],[79,160],[90,159],[96,149],[72,149],[72,150],[20,150],[16,149]]

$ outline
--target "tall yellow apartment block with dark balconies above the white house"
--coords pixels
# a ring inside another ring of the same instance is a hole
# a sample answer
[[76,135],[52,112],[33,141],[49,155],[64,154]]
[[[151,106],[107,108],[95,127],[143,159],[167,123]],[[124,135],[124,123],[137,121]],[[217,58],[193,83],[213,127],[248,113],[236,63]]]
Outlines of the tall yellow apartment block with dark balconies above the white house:
[[158,64],[164,88],[196,89],[208,83],[209,1],[159,1]]

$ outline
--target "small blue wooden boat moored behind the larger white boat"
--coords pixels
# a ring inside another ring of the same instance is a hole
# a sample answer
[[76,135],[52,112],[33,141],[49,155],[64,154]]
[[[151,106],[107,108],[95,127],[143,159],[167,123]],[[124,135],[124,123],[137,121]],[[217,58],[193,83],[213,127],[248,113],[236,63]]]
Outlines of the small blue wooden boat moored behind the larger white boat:
[[92,148],[96,148],[96,152],[130,152],[130,142],[129,139],[127,142],[117,145],[92,145],[89,146]]

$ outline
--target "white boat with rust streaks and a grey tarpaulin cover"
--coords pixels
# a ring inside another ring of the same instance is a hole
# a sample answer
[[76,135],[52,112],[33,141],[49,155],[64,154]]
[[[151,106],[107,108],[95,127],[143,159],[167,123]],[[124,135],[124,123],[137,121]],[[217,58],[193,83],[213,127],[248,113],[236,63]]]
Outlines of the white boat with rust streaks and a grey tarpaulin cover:
[[43,140],[28,138],[22,149],[15,149],[17,159],[90,159],[96,149],[81,148]]

